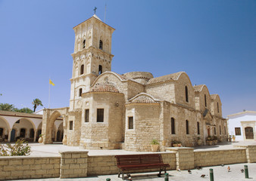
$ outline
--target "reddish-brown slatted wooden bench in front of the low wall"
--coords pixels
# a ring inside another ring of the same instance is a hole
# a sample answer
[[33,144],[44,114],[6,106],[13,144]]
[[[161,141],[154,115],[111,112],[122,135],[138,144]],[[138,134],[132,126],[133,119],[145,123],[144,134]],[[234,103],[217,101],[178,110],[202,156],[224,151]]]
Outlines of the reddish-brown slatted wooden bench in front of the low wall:
[[158,176],[161,176],[161,171],[170,167],[169,164],[164,164],[161,154],[144,154],[144,155],[116,155],[118,177],[122,173],[122,179],[124,179],[123,172],[126,170],[142,170],[159,168]]

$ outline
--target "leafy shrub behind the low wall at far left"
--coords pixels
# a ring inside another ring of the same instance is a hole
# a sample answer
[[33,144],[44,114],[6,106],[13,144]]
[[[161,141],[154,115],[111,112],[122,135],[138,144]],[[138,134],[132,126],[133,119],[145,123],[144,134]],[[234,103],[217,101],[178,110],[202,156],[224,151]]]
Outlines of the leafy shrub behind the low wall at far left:
[[[23,143],[26,145],[23,145]],[[11,143],[0,145],[0,156],[30,155],[30,149],[31,147],[25,140],[17,140],[14,145],[11,145]]]

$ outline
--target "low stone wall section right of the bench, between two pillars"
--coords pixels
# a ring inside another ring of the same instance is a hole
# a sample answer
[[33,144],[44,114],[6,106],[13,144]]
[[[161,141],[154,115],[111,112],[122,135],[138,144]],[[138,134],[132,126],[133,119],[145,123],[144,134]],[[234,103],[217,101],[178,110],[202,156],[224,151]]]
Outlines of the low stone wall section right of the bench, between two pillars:
[[195,167],[245,163],[247,162],[245,152],[246,149],[195,151]]

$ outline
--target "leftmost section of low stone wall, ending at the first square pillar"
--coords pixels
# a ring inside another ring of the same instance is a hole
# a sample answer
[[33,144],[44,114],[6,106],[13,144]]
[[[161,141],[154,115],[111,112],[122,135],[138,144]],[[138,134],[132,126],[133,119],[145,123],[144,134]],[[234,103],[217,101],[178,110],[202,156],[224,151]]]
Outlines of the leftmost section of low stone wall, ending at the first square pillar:
[[60,176],[61,157],[0,157],[0,179],[40,179]]

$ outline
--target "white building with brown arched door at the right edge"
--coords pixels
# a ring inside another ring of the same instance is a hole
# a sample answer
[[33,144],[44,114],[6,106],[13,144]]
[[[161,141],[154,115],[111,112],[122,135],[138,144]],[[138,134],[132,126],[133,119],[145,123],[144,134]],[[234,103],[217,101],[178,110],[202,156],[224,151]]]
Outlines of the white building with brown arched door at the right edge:
[[238,112],[227,118],[229,135],[235,135],[236,141],[256,140],[256,111]]

